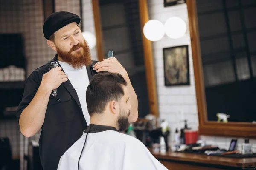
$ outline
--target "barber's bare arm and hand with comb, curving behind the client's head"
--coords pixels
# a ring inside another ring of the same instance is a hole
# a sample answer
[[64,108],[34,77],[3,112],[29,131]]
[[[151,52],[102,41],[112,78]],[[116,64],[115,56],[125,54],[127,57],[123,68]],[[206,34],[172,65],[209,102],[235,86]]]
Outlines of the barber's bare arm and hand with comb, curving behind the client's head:
[[93,67],[94,67],[94,70],[96,70],[97,72],[108,71],[112,73],[119,73],[122,75],[122,77],[124,77],[124,79],[127,82],[127,87],[131,96],[130,103],[131,103],[132,109],[131,109],[131,115],[129,116],[129,122],[131,123],[135,122],[138,118],[138,99],[134,91],[134,88],[131,85],[131,81],[129,79],[129,76],[125,68],[123,68],[123,66],[120,64],[119,61],[117,61],[115,57],[104,59],[102,62],[97,62]]

